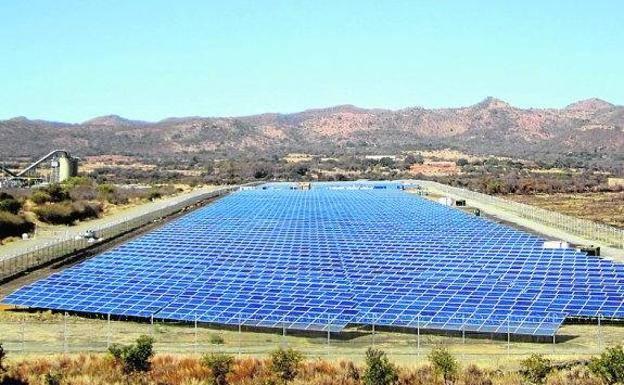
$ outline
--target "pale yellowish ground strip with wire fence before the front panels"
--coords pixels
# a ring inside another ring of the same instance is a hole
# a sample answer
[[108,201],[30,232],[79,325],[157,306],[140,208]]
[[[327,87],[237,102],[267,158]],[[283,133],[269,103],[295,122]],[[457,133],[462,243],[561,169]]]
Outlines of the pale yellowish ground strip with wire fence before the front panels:
[[[280,347],[292,347],[308,357],[361,360],[369,347],[386,351],[397,362],[425,359],[434,347],[444,346],[466,361],[491,362],[518,360],[541,353],[558,358],[586,358],[604,346],[621,341],[621,327],[593,324],[567,325],[553,337],[474,331],[435,331],[426,328],[387,328],[371,325],[348,326],[332,331],[333,325],[318,325],[325,330],[294,331],[274,325],[250,326],[248,321],[229,326],[199,322],[130,322],[85,319],[60,314],[28,315],[19,313],[0,320],[0,343],[11,355],[105,352],[114,343],[132,343],[141,335],[152,336],[159,353],[227,353],[263,357]],[[46,318],[47,317],[47,318]],[[463,318],[470,321],[469,318]],[[416,319],[412,322],[416,325]],[[619,333],[619,334],[618,334]]]

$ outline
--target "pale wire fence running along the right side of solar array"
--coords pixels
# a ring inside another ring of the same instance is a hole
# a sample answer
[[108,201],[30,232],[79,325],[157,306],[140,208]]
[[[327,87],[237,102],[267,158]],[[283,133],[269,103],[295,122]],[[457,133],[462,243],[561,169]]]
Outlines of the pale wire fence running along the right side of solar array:
[[438,182],[418,181],[417,183],[425,189],[438,190],[451,197],[471,201],[469,204],[474,206],[477,206],[479,203],[487,206],[493,206],[521,218],[562,230],[571,235],[602,242],[605,246],[624,248],[624,229],[618,229],[586,219],[574,218],[539,207],[512,202],[491,195],[459,187],[452,187]]

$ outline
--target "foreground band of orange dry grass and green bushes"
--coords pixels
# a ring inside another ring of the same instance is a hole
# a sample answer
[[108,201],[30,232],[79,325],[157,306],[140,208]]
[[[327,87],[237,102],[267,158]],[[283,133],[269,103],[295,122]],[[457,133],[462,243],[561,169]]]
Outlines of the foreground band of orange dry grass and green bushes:
[[0,344],[0,385],[51,384],[306,384],[306,385],[611,385],[624,383],[624,350],[607,348],[590,360],[552,362],[541,355],[523,360],[517,371],[462,366],[443,347],[424,364],[397,366],[382,350],[369,348],[363,365],[306,359],[279,348],[268,357],[221,353],[155,354],[153,339],[112,345],[106,354],[59,355],[7,362]]

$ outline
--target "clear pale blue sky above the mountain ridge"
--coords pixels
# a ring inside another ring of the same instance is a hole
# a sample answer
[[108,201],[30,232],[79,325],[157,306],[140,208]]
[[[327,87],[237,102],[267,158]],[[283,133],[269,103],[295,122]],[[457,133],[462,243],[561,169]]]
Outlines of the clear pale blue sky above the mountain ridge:
[[0,118],[624,104],[624,1],[0,1]]

